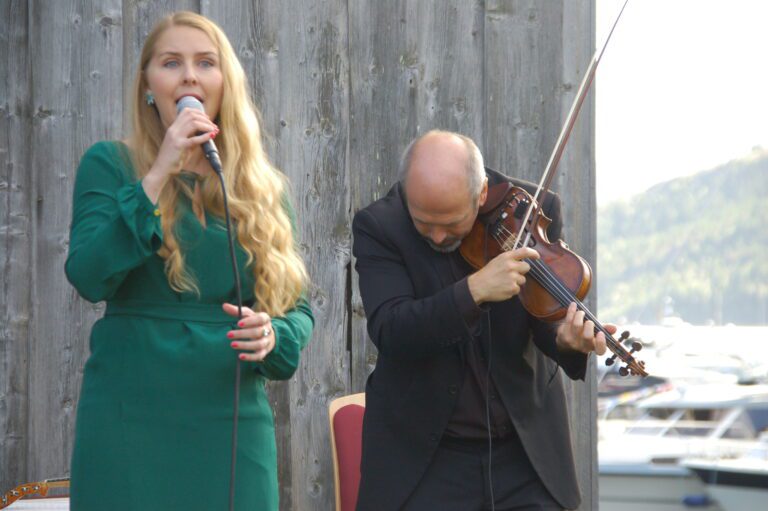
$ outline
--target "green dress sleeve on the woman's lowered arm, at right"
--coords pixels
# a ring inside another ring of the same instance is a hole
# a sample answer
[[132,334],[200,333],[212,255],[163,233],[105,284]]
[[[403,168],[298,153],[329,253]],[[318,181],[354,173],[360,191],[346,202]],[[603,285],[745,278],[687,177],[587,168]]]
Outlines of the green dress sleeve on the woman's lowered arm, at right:
[[[287,196],[283,196],[282,205],[296,236],[296,214]],[[299,366],[301,350],[312,337],[314,324],[312,309],[304,296],[284,316],[272,318],[275,348],[256,366],[257,371],[270,380],[287,380],[293,376]]]

